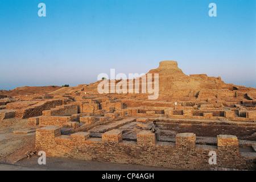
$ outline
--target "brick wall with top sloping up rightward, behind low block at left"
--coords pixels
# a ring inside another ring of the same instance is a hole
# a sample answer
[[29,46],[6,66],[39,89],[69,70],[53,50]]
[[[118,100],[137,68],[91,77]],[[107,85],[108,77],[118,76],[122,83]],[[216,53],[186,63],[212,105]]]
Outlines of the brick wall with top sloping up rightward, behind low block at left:
[[77,105],[57,106],[51,110],[44,110],[43,115],[72,115],[77,114]]

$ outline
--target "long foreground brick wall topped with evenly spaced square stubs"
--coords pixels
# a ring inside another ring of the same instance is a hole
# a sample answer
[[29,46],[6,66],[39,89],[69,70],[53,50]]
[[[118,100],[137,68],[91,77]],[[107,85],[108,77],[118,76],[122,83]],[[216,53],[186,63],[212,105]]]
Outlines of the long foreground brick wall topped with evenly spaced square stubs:
[[[60,128],[51,127],[36,130],[36,150],[45,151],[47,156],[174,169],[255,169],[256,156],[230,152],[237,143],[226,135],[219,136],[218,146],[214,147],[195,144],[193,133],[177,134],[176,143],[172,143],[154,142],[154,134],[142,131],[137,135],[138,141],[133,142],[121,140],[121,131],[108,131],[101,139],[88,138],[86,133],[60,135]],[[209,164],[209,151],[216,152],[217,164]]]

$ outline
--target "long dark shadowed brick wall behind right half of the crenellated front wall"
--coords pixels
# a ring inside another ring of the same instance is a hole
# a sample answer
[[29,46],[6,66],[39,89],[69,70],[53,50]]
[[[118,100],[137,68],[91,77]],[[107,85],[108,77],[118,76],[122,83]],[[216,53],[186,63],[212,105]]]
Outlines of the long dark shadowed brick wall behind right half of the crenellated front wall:
[[192,123],[163,123],[158,122],[157,125],[161,130],[174,130],[178,133],[195,133],[198,136],[216,137],[220,134],[236,135],[237,137],[244,137],[256,132],[255,126],[234,126],[234,125],[214,125],[208,124],[192,124]]

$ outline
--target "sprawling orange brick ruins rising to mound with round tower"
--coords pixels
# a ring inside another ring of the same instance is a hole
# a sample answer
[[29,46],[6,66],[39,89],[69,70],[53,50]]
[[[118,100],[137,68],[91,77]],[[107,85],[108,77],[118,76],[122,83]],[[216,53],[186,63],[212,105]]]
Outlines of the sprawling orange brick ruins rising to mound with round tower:
[[[256,89],[225,84],[220,77],[184,76],[175,63],[162,64],[166,68],[160,64],[149,72],[160,74],[157,100],[148,100],[148,93],[98,94],[96,82],[40,97],[2,98],[0,122],[28,118],[28,127],[36,129],[36,151],[47,156],[175,169],[255,170]],[[206,83],[195,90],[181,86],[178,94],[177,88],[164,85],[169,77],[172,84]],[[150,132],[153,121],[159,140]],[[209,164],[210,151],[216,152],[217,164]]]

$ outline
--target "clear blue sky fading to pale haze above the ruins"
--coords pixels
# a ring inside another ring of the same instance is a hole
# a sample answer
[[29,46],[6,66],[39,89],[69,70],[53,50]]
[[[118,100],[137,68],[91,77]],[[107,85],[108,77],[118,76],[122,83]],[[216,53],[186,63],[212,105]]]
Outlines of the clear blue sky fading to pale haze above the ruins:
[[147,73],[163,60],[256,88],[256,1],[0,1],[0,89],[89,84],[110,68]]

